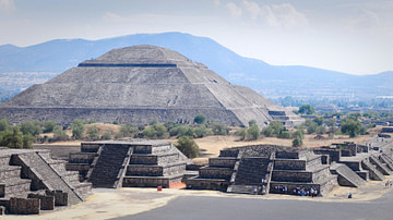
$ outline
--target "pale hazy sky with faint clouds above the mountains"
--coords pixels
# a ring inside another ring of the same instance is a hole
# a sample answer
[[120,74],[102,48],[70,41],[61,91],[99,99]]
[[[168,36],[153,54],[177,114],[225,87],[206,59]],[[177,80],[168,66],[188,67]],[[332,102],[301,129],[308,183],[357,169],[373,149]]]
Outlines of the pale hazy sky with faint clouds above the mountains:
[[183,32],[270,64],[393,71],[393,0],[0,0],[0,45]]

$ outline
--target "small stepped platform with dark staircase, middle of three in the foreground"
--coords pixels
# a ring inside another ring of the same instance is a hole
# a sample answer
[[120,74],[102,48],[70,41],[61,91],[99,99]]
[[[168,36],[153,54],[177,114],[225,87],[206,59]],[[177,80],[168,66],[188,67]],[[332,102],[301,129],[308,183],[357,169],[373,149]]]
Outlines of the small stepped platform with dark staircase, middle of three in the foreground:
[[163,186],[181,182],[189,159],[175,146],[159,140],[82,143],[70,154],[68,170],[79,171],[93,187]]

